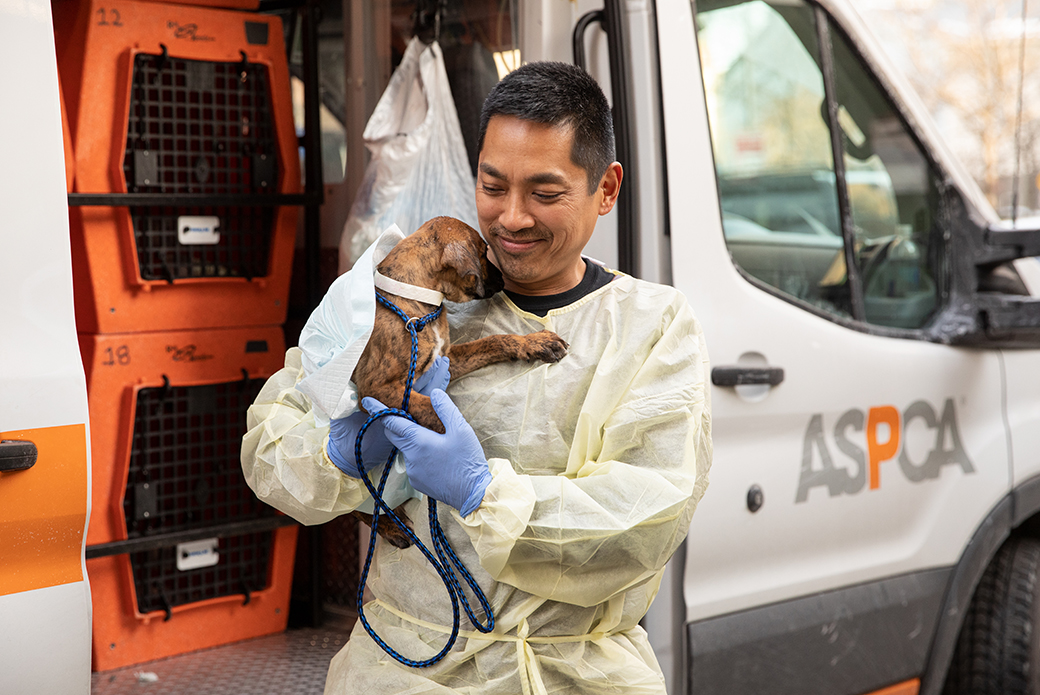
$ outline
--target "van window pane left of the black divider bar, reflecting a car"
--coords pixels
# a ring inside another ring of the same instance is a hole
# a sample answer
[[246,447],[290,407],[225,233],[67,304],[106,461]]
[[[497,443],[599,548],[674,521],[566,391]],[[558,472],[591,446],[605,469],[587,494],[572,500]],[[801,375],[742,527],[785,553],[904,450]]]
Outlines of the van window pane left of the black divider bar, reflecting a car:
[[851,316],[812,8],[697,4],[730,254],[780,291]]

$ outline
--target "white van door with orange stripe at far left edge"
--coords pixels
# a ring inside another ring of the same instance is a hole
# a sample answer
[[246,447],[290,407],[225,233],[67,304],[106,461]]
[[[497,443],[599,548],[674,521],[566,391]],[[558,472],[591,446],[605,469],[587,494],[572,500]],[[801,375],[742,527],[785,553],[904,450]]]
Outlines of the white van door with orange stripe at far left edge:
[[86,385],[51,6],[0,3],[0,693],[90,689]]

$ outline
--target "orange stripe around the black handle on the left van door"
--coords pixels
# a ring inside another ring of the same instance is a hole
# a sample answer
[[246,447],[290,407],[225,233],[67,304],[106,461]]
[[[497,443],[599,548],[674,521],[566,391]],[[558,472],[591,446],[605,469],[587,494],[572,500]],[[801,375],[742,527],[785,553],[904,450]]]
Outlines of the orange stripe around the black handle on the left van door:
[[0,595],[82,582],[86,427],[0,432],[36,444],[36,464],[0,473]]

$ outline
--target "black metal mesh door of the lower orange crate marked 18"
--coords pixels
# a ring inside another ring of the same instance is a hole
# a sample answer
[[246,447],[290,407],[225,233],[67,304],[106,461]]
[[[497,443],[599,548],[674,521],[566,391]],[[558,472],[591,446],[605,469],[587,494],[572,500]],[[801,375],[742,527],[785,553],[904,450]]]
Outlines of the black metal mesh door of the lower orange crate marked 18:
[[[245,410],[263,380],[164,386],[137,392],[124,497],[128,538],[272,516],[245,485],[238,451]],[[271,532],[219,538],[219,562],[178,568],[178,549],[130,556],[137,610],[168,610],[266,588]]]

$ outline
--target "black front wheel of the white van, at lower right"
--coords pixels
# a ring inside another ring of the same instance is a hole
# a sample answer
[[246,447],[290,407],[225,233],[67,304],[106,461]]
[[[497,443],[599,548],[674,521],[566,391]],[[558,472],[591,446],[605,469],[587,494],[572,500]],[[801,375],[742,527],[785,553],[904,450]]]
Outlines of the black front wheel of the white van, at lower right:
[[1008,540],[976,589],[943,695],[1040,693],[1040,541]]

